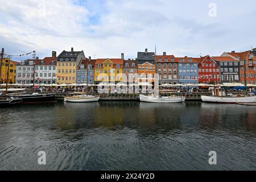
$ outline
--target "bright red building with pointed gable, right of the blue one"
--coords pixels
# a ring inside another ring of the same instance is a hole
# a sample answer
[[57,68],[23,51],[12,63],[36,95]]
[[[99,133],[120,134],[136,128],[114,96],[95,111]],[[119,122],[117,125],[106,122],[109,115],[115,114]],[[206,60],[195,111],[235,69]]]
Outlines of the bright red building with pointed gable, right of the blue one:
[[204,56],[198,60],[198,74],[200,84],[220,82],[220,67],[212,57]]

